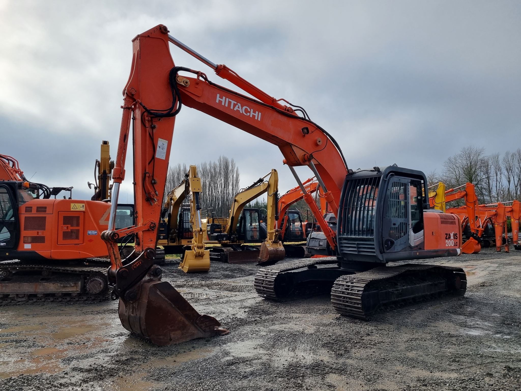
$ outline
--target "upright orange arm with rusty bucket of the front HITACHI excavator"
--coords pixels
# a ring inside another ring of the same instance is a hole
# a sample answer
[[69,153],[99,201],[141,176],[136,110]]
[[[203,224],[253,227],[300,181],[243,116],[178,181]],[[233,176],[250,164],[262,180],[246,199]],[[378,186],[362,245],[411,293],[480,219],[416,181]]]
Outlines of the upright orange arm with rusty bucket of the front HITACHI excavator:
[[[166,28],[158,26],[133,40],[130,77],[123,90],[109,224],[102,234],[111,261],[109,279],[120,300],[121,323],[156,345],[228,333],[213,317],[197,313],[169,283],[161,282],[162,270],[153,265],[174,116],[181,108],[176,96],[172,96],[172,83],[168,83],[173,61],[166,33]],[[130,136],[134,152],[135,226],[115,230]],[[135,251],[122,262],[117,239],[129,234],[136,236]]]

